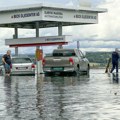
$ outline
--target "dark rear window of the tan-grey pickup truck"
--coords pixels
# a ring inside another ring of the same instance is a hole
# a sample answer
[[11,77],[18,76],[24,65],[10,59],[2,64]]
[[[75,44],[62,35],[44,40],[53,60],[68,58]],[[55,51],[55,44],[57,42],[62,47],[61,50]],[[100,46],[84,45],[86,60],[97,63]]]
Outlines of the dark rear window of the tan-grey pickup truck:
[[75,56],[74,50],[65,50],[65,51],[55,51],[53,52],[53,56]]

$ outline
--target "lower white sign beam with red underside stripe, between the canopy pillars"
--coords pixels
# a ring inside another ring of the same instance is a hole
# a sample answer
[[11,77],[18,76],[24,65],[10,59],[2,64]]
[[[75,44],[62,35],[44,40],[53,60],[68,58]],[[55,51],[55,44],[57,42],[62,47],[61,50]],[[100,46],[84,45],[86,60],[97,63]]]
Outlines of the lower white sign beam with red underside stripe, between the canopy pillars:
[[33,38],[6,39],[5,45],[10,47],[31,47],[47,45],[63,45],[71,41],[71,36],[48,36]]

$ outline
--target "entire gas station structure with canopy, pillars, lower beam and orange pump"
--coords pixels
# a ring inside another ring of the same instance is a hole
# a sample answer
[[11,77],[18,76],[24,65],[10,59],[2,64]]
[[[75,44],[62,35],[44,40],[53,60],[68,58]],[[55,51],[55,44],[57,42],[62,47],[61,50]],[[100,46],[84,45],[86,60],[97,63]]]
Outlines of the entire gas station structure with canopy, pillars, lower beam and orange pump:
[[[42,70],[42,53],[40,46],[63,45],[69,42],[70,36],[62,35],[63,26],[97,24],[98,13],[106,9],[93,7],[65,7],[62,5],[35,4],[0,9],[0,27],[14,28],[13,39],[6,39],[5,45],[15,48],[36,47],[37,73]],[[40,28],[58,27],[58,36],[40,36]],[[35,29],[36,37],[18,38],[18,29]]]

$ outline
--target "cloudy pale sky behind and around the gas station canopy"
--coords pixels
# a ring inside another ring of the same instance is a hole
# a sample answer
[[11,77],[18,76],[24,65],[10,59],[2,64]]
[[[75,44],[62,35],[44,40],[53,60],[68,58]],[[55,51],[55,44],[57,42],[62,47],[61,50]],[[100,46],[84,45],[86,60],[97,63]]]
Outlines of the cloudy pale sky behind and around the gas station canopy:
[[[0,0],[0,7],[19,6],[38,3],[64,4],[69,6],[78,6],[82,1],[90,2],[92,7],[108,9],[107,13],[99,14],[99,23],[92,25],[79,25],[63,28],[63,34],[73,36],[74,40],[82,40],[80,47],[84,51],[112,51],[114,48],[120,48],[120,2],[119,0]],[[57,35],[57,28],[40,30],[41,36]],[[13,29],[0,28],[0,52],[4,53],[9,47],[5,46],[4,40],[12,38]],[[33,37],[34,30],[19,30],[19,37]],[[85,41],[83,41],[85,40]],[[86,41],[87,40],[87,41]],[[93,41],[94,40],[94,41]],[[97,41],[98,40],[98,41]],[[101,41],[100,41],[101,40]],[[76,47],[76,42],[66,47]],[[45,52],[54,47],[43,47]],[[11,49],[11,48],[10,48]],[[11,49],[14,52],[14,49]],[[20,48],[20,53],[34,53],[35,48]]]

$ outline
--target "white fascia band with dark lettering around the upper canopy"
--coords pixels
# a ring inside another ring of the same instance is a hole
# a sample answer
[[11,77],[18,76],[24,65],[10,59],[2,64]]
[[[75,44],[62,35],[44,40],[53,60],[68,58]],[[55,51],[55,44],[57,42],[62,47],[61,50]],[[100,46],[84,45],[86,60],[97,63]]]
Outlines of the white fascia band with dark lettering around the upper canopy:
[[31,21],[98,23],[98,13],[92,11],[75,11],[60,8],[36,8],[18,11],[8,11],[6,13],[0,14],[0,24]]

